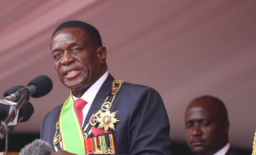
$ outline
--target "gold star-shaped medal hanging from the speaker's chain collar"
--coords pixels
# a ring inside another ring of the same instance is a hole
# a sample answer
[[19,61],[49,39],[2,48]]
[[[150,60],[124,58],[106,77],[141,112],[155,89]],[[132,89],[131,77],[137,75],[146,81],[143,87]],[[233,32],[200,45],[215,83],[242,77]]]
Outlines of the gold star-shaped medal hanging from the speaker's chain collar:
[[117,120],[115,118],[116,112],[110,113],[109,110],[106,110],[106,112],[100,112],[100,118],[96,120],[97,122],[100,123],[98,128],[103,128],[104,127],[105,131],[108,131],[109,128],[115,130],[114,123],[119,122],[119,120]]

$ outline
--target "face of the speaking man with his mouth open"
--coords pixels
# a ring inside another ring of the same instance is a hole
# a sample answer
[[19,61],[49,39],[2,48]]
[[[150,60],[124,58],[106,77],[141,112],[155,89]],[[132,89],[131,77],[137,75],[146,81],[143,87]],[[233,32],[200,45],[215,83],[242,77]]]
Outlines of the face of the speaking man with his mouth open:
[[101,63],[81,28],[56,32],[52,40],[52,56],[60,81],[72,91],[89,88],[101,73]]

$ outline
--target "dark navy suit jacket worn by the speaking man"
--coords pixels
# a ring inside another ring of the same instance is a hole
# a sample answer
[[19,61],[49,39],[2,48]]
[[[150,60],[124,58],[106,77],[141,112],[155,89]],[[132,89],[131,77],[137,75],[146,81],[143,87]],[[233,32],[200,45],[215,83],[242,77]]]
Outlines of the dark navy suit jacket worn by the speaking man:
[[[109,74],[91,104],[83,128],[91,115],[101,108],[112,89],[113,80]],[[111,102],[112,98],[113,95],[108,101]],[[61,107],[62,105],[49,112],[41,126],[41,139],[49,142],[53,151],[53,138]],[[117,154],[171,154],[170,124],[162,98],[157,91],[125,82],[116,95],[110,112],[117,110],[115,118],[120,122],[114,124],[115,131],[109,130],[113,133]],[[89,129],[90,127],[86,133]]]

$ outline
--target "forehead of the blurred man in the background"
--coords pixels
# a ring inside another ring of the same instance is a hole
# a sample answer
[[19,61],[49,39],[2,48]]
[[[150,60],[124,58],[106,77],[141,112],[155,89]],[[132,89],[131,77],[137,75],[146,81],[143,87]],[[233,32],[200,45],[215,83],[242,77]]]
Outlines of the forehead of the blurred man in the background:
[[193,120],[193,119],[208,119],[213,120],[214,111],[204,107],[188,107],[185,113],[185,120]]

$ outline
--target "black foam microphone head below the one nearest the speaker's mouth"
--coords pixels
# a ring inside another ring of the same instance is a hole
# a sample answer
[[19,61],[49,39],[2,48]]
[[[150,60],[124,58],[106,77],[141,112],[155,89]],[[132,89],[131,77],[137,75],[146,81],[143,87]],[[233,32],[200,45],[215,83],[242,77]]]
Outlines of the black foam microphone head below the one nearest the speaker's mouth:
[[32,104],[26,100],[19,108],[18,122],[27,122],[33,113],[34,108]]

